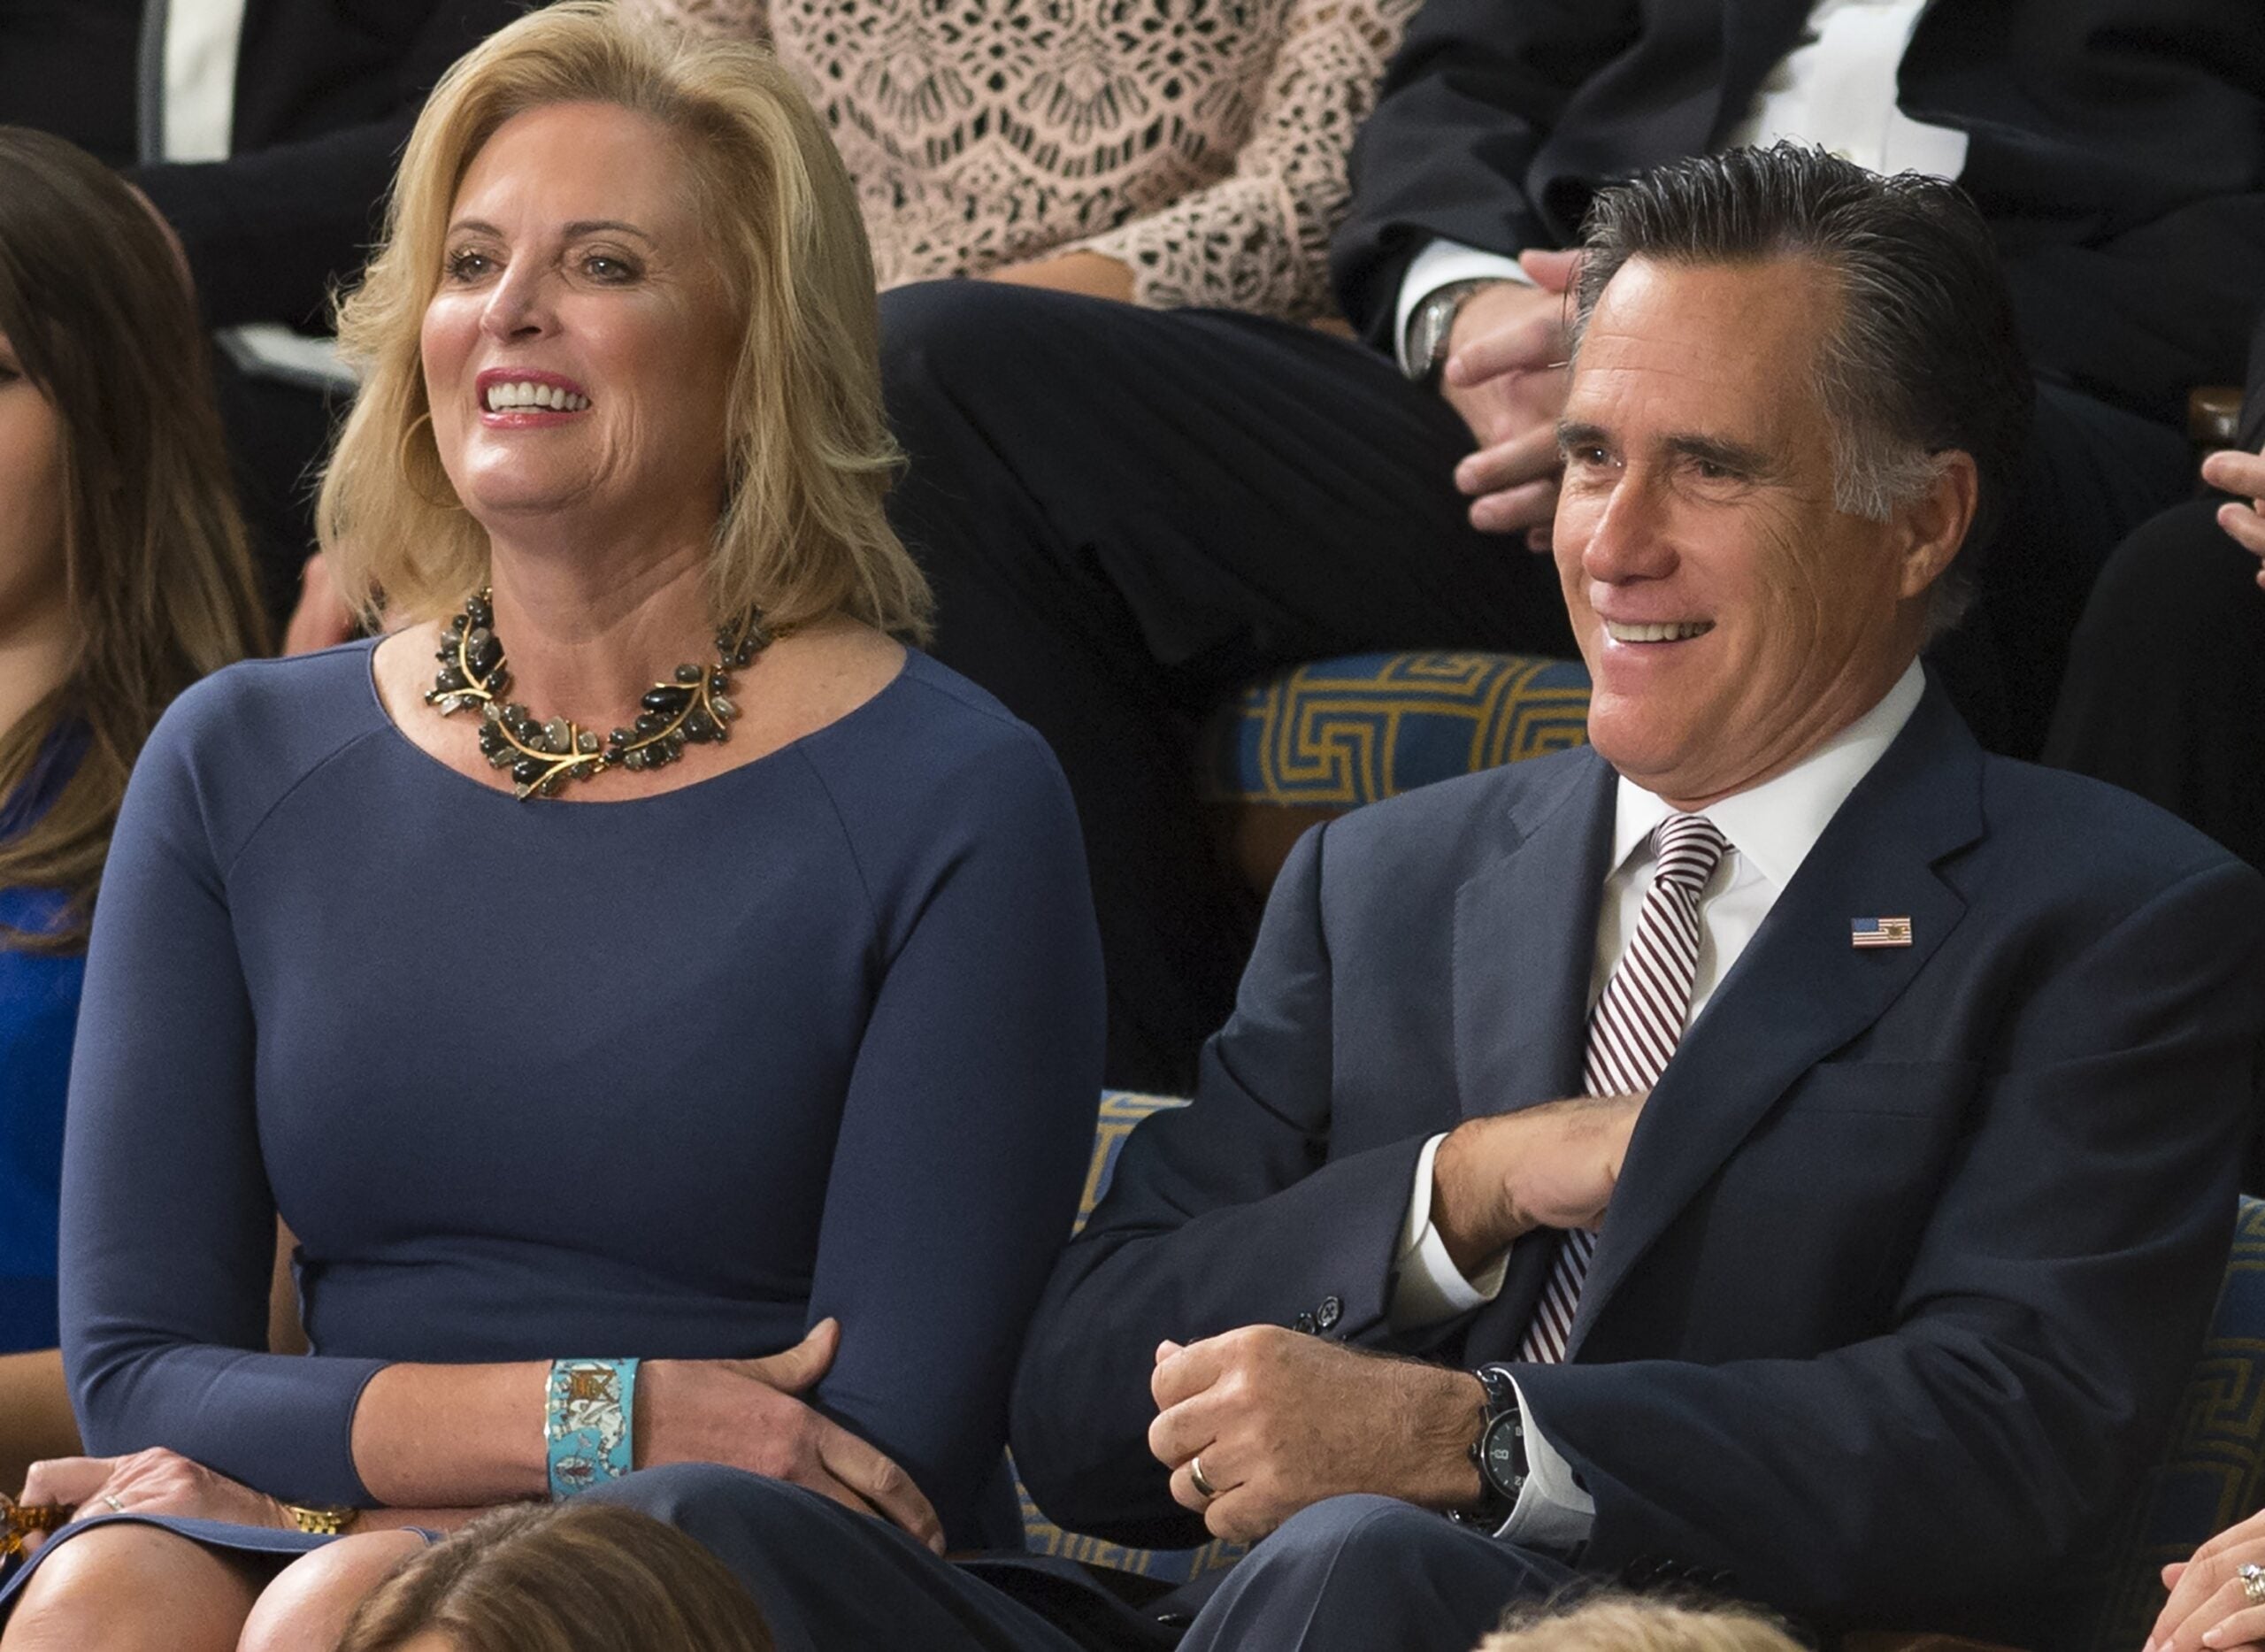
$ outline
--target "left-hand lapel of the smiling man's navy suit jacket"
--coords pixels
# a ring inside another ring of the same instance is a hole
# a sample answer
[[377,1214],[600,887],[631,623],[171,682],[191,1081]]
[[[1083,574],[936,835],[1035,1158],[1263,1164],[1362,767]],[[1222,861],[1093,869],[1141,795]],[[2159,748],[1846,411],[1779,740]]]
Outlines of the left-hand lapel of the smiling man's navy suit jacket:
[[1454,1088],[1463,1117],[1572,1095],[1613,845],[1613,768],[1583,748],[1511,807],[1518,843],[1454,893]]

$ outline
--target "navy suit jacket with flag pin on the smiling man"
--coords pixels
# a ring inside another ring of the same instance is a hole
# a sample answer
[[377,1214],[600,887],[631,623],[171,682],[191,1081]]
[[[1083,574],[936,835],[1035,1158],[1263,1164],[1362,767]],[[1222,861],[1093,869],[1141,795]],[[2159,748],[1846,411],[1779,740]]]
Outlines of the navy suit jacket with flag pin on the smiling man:
[[[1194,1106],[1144,1122],[1026,1344],[1015,1459],[1071,1530],[1203,1539],[1146,1450],[1160,1339],[1393,1337],[1422,1142],[1579,1090],[1613,827],[1592,752],[1307,834]],[[1907,916],[1909,950],[1851,918]],[[2265,882],[2152,804],[1986,757],[1939,689],[1656,1088],[1574,1323],[1527,1366],[1586,1566],[1730,1568],[1819,1625],[2016,1645],[2095,1582],[2217,1294],[2265,1029]]]

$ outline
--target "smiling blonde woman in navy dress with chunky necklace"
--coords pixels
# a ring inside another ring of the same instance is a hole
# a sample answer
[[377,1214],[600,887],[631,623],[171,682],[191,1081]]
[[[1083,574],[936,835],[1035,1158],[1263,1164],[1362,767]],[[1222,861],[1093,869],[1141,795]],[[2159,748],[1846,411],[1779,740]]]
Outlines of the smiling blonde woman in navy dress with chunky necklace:
[[16,1525],[77,1521],[0,1645],[326,1645],[401,1527],[589,1489],[951,1579],[1099,963],[1051,755],[904,646],[824,129],[757,48],[537,11],[435,91],[340,338],[324,537],[401,630],[136,768],[63,1165],[106,1457],[32,1471]]

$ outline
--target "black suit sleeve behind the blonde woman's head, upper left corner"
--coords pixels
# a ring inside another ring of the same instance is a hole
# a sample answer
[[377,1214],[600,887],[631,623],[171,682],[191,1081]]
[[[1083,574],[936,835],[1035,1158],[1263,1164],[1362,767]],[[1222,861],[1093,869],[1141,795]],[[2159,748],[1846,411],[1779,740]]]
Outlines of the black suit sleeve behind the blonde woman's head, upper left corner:
[[211,326],[326,326],[331,290],[360,272],[426,93],[446,68],[516,18],[519,0],[433,9],[394,70],[396,104],[378,120],[226,161],[161,161],[127,177],[172,224]]

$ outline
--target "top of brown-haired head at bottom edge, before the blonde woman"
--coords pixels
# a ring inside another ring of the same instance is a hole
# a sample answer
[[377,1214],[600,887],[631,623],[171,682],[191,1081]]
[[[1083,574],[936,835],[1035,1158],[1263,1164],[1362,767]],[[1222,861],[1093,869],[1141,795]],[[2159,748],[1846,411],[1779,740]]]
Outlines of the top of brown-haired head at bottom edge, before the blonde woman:
[[772,1652],[723,1561],[612,1502],[482,1514],[378,1584],[337,1652],[396,1652],[421,1634],[455,1652]]

